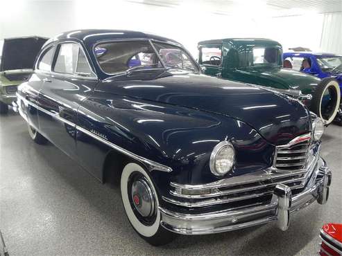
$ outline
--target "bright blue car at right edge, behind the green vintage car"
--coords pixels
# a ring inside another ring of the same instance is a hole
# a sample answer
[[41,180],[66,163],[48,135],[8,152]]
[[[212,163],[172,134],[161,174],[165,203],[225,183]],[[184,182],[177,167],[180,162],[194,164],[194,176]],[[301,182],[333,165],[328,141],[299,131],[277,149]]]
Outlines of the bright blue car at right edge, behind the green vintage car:
[[[333,77],[339,82],[342,98],[342,55],[334,53],[291,52],[284,53],[284,65],[316,77]],[[334,120],[342,125],[342,102]]]

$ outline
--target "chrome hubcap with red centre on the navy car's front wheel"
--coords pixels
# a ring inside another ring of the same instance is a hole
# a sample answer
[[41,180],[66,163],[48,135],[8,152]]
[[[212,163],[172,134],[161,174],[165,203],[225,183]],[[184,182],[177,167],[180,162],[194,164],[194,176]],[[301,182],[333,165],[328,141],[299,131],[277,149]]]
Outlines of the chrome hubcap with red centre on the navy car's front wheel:
[[132,202],[142,217],[151,217],[155,213],[153,192],[144,177],[139,177],[132,183]]

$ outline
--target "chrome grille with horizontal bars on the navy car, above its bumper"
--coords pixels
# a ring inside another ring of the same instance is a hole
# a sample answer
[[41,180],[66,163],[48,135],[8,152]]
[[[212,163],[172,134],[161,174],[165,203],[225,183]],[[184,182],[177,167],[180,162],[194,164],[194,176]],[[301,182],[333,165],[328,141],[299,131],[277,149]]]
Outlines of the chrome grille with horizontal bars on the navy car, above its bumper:
[[249,199],[255,201],[257,198],[268,201],[278,183],[289,186],[293,194],[296,194],[305,188],[318,161],[319,149],[320,143],[311,145],[311,134],[298,136],[287,145],[276,147],[273,166],[267,170],[203,185],[171,182],[173,190],[170,190],[170,194],[178,199],[164,196],[163,199],[188,208],[238,201],[247,203]]

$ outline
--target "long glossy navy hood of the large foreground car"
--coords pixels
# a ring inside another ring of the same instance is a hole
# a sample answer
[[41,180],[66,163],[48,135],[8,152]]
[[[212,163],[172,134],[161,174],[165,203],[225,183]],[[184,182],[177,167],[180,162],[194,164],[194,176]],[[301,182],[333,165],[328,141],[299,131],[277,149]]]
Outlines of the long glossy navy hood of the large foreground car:
[[187,73],[133,75],[105,80],[98,91],[230,116],[281,145],[309,132],[309,111],[297,100],[257,86]]

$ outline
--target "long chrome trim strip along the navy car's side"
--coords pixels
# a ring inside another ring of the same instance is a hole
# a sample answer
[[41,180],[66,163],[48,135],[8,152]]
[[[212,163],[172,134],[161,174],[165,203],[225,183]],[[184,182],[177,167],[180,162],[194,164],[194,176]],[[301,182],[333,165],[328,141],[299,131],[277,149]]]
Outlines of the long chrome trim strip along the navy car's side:
[[[33,102],[29,102],[28,100],[26,100],[25,98],[23,98],[19,94],[17,94],[17,97],[20,100],[23,100],[24,102],[26,102],[27,104],[30,104],[31,106],[37,108],[38,110],[48,114],[49,116],[52,116],[53,118],[56,118],[56,119],[60,120],[61,122],[65,122],[67,125],[70,125],[71,127],[74,127],[76,129],[78,129],[78,131],[82,131],[83,133],[91,136],[92,138],[94,138],[96,140],[99,140],[101,143],[105,143],[105,145],[108,145],[109,147],[112,147],[113,149],[116,149],[117,151],[119,151],[119,152],[121,152],[123,154],[126,154],[127,156],[135,158],[135,160],[137,160],[137,161],[142,161],[143,163],[148,165],[148,169],[150,171],[152,171],[152,170],[160,170],[162,172],[172,172],[172,168],[171,167],[168,167],[166,165],[162,165],[160,163],[156,163],[154,161],[148,160],[147,158],[144,158],[142,156],[138,156],[137,154],[129,152],[128,150],[123,149],[122,147],[119,147],[118,145],[115,145],[114,143],[111,143],[110,141],[101,138],[97,134],[94,134],[91,131],[88,131],[87,129],[79,127],[78,125],[74,124],[74,122],[70,122],[69,120],[66,120],[65,118],[60,117],[58,113],[51,113],[50,111],[47,111],[46,109],[43,109],[42,107],[37,106],[37,104],[35,104]],[[25,120],[27,121],[27,119],[25,119]]]

